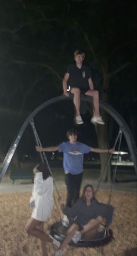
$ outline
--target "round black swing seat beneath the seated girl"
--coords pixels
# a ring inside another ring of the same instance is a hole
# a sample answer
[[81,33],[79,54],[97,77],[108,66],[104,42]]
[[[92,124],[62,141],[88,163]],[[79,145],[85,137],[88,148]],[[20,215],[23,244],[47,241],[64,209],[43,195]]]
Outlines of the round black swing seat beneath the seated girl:
[[[62,221],[56,222],[51,226],[51,235],[62,243],[66,237],[66,231],[69,227],[63,226]],[[113,239],[113,232],[111,229],[106,231],[106,227],[103,224],[100,224],[98,234],[92,240],[85,240],[84,236],[81,237],[81,240],[75,244],[73,241],[70,241],[69,245],[73,246],[85,246],[85,247],[95,247],[109,243]]]

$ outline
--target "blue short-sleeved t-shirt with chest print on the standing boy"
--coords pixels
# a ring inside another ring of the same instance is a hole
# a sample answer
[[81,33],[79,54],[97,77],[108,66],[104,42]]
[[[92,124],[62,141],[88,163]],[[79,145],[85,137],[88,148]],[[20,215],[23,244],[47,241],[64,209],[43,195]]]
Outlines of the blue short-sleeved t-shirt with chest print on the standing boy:
[[63,142],[59,145],[59,152],[63,152],[63,168],[70,174],[80,174],[83,171],[84,154],[91,151],[91,147],[84,143]]

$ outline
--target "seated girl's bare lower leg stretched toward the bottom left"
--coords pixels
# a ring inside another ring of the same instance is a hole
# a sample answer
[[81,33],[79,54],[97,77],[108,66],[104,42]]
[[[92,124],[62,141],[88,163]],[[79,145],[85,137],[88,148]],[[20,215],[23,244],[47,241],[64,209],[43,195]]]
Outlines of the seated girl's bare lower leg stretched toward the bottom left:
[[60,246],[59,250],[63,251],[63,249],[66,247],[66,245],[70,243],[71,238],[75,234],[75,231],[77,231],[78,229],[79,229],[79,227],[77,224],[72,224],[70,226],[70,228],[67,230],[67,236],[66,236],[65,240],[63,241],[62,245]]

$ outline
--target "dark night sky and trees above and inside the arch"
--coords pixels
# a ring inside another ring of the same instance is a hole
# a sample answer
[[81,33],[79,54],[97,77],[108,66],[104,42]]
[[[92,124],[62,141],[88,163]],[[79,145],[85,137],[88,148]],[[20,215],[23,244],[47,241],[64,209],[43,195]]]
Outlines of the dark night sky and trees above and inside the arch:
[[[86,54],[100,99],[124,117],[137,141],[136,1],[3,1],[0,13],[1,159],[26,117],[63,93],[62,78],[76,49]],[[92,112],[82,104],[81,113],[80,139],[96,146]],[[72,102],[42,110],[35,117],[42,143],[65,140],[73,119]],[[111,117],[106,126],[112,145],[118,127]],[[24,144],[32,141],[30,133],[28,128]]]

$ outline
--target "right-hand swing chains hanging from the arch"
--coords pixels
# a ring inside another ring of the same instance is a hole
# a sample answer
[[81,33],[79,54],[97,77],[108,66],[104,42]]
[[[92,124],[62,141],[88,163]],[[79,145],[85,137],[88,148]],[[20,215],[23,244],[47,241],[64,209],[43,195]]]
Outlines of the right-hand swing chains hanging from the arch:
[[[116,140],[115,140],[115,142],[114,142],[113,148],[116,148],[117,142],[118,142],[118,140],[120,139],[120,144],[119,144],[119,146],[118,146],[118,150],[120,150],[121,137],[122,137],[122,131],[121,131],[121,129],[119,129],[119,131],[118,131],[118,133],[117,133]],[[108,160],[107,160],[106,167],[105,167],[104,170],[102,171],[102,175],[101,175],[101,177],[100,177],[100,179],[99,179],[99,182],[98,182],[98,185],[97,185],[95,194],[98,192],[100,183],[102,182],[102,178],[103,178],[104,172],[106,172],[107,167],[108,167],[108,165],[109,165],[109,163],[110,163],[111,156],[112,156],[112,153],[110,153],[109,158],[108,158]],[[117,165],[116,165],[116,167],[117,167]],[[110,192],[110,196],[109,196],[109,204],[110,204],[110,200],[111,200],[111,193],[112,193],[112,191],[113,191],[113,183],[114,183],[115,178],[116,178],[116,172],[117,172],[117,168],[115,169],[114,175],[113,175],[113,178],[112,178],[111,192]]]

